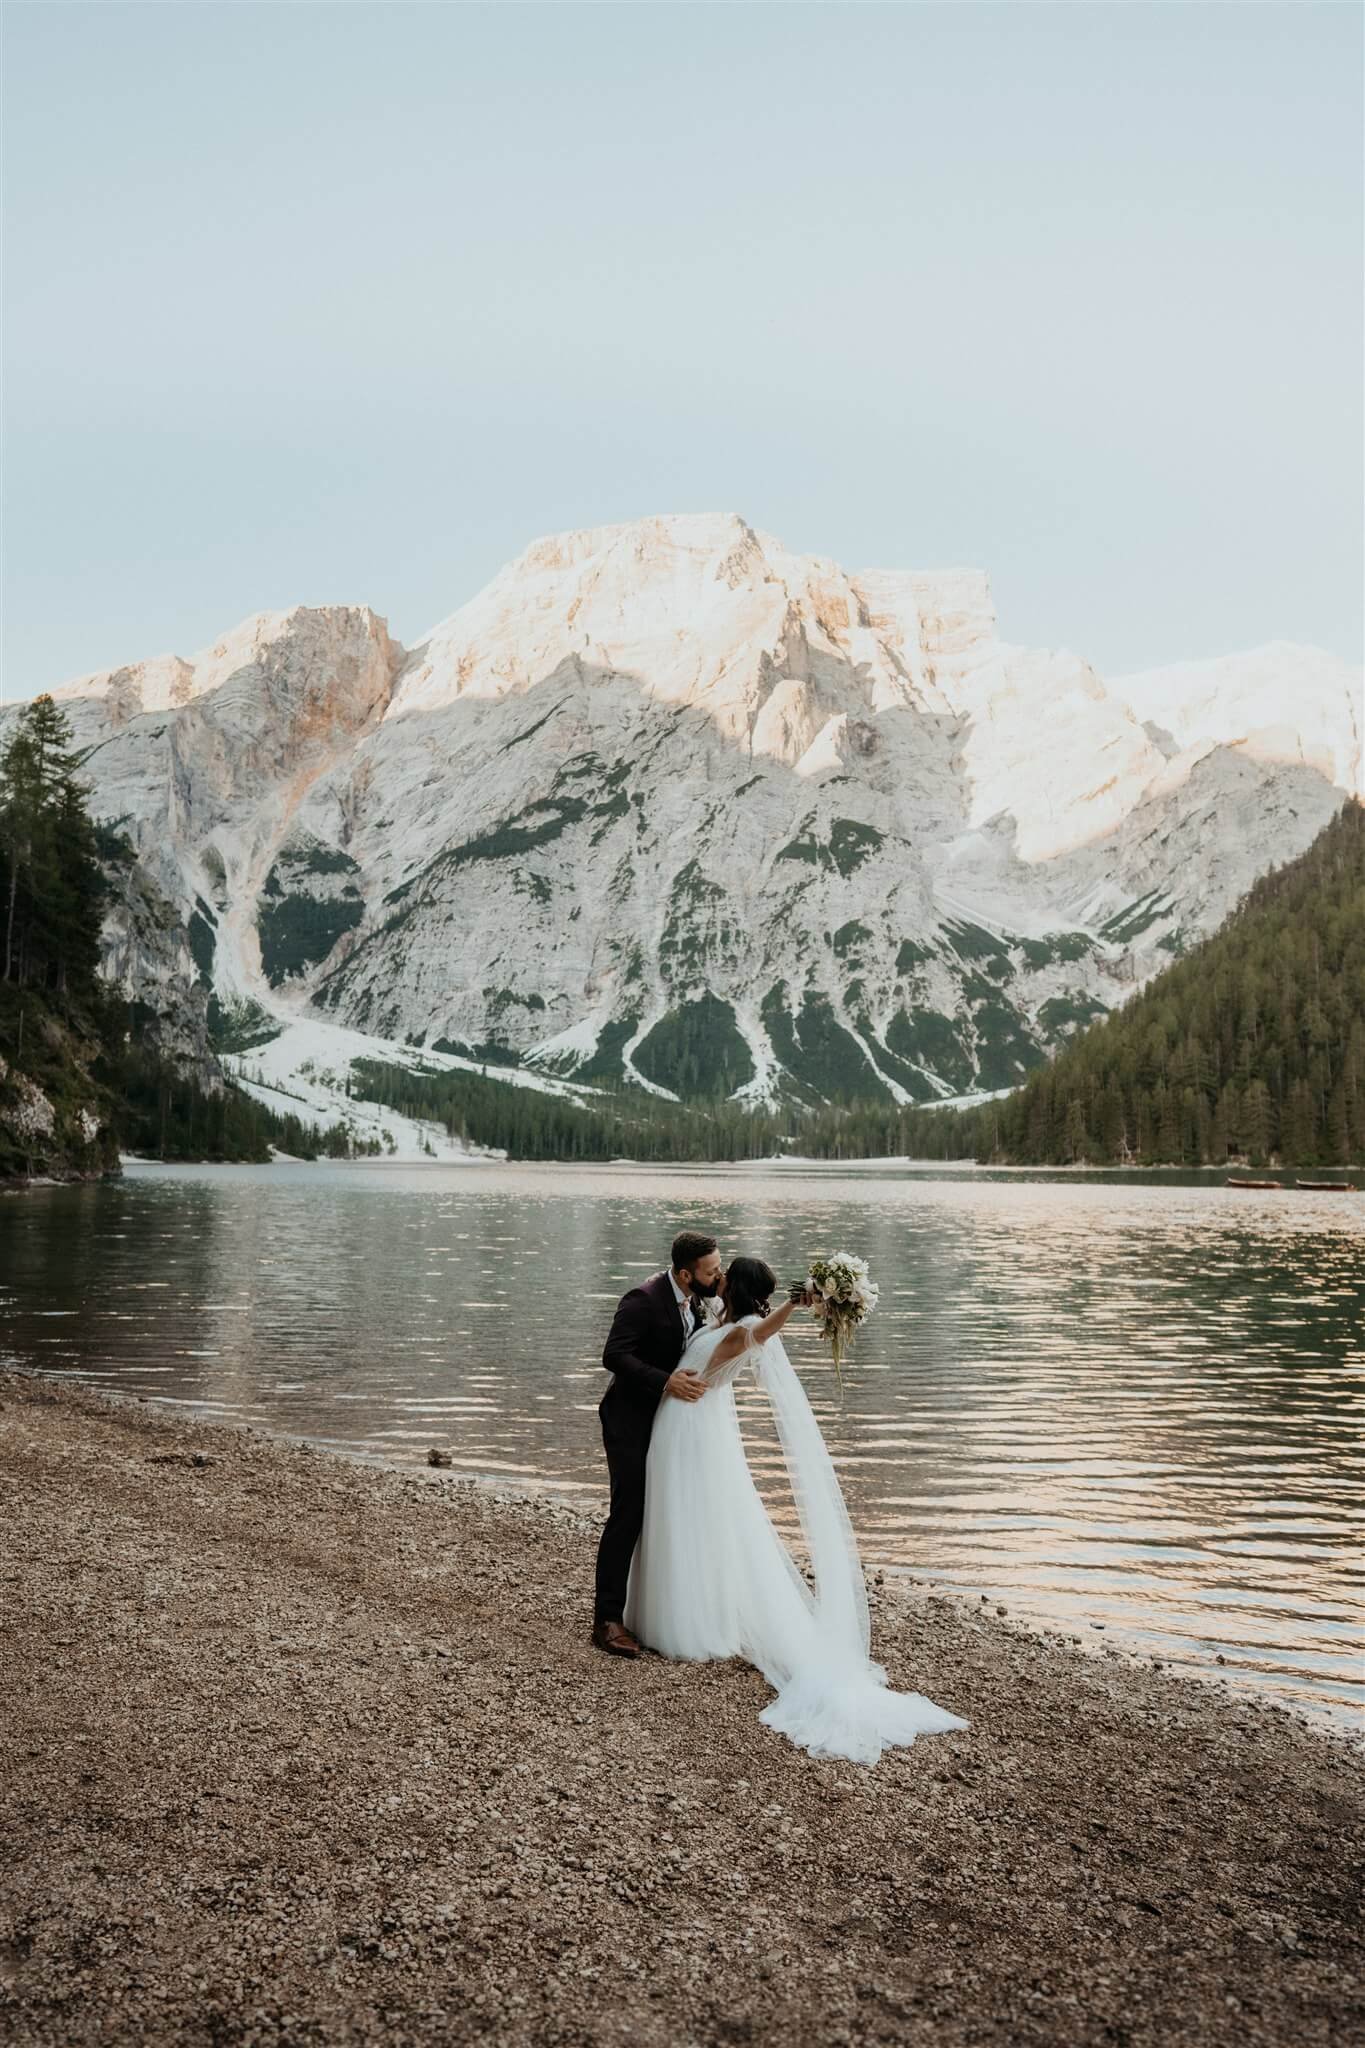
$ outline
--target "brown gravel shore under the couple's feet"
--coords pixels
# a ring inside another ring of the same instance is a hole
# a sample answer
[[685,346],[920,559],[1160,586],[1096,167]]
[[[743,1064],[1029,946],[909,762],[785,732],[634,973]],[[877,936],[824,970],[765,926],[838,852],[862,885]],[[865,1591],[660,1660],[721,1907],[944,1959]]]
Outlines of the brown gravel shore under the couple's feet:
[[596,1522],[0,1372],[0,2038],[1365,2038],[1365,1761],[968,1602],[866,1772],[587,1642]]

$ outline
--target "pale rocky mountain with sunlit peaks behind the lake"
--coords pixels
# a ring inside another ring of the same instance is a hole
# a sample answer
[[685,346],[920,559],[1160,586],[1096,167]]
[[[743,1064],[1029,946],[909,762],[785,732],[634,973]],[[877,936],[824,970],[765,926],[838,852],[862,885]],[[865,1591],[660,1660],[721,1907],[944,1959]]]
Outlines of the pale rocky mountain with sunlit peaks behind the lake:
[[684,1100],[1011,1087],[1361,788],[1330,653],[1105,680],[1003,641],[980,571],[733,514],[536,541],[409,649],[301,606],[55,694],[276,1087],[377,1042]]

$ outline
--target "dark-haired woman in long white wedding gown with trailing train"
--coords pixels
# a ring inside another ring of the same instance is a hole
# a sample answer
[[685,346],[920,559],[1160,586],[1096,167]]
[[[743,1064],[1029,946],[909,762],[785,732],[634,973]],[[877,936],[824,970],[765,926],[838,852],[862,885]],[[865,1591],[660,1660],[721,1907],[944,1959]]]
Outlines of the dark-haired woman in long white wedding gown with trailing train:
[[[776,1274],[733,1260],[724,1315],[696,1329],[684,1366],[700,1401],[663,1401],[645,1468],[645,1528],[630,1565],[626,1628],[665,1657],[745,1657],[776,1692],[761,1720],[817,1757],[876,1763],[884,1747],[970,1726],[921,1692],[890,1692],[868,1657],[857,1542],[821,1427],[769,1313]],[[767,1518],[735,1411],[735,1376],[765,1391],[786,1458],[814,1591]]]

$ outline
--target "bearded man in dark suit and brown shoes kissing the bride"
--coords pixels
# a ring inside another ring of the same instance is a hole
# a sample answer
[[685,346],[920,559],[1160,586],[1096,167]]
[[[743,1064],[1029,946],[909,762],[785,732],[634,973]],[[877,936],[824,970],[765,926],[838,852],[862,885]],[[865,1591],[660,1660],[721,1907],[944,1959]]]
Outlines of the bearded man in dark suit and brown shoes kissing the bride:
[[700,1401],[700,1376],[679,1364],[694,1329],[708,1321],[704,1303],[720,1292],[714,1237],[679,1231],[667,1272],[628,1288],[608,1333],[602,1364],[612,1382],[602,1397],[602,1444],[612,1479],[612,1509],[598,1546],[598,1595],[591,1638],[608,1657],[639,1657],[624,1626],[630,1559],[645,1522],[645,1458],[655,1409],[665,1395]]

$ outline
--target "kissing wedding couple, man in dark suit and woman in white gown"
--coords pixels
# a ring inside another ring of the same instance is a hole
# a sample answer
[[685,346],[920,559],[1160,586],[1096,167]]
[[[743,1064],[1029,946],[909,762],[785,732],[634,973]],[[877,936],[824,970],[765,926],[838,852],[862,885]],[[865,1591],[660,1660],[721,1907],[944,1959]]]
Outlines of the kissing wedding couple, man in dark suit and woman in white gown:
[[[612,1483],[591,1640],[610,1657],[743,1657],[776,1698],[761,1712],[800,1749],[876,1763],[884,1747],[970,1726],[872,1663],[868,1593],[835,1468],[782,1343],[804,1288],[772,1307],[763,1260],[722,1268],[714,1237],[681,1231],[669,1266],[628,1288],[602,1364]],[[735,1378],[751,1372],[778,1423],[810,1583],[759,1499]]]

